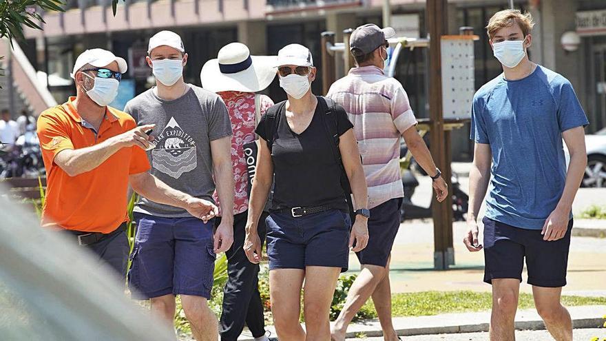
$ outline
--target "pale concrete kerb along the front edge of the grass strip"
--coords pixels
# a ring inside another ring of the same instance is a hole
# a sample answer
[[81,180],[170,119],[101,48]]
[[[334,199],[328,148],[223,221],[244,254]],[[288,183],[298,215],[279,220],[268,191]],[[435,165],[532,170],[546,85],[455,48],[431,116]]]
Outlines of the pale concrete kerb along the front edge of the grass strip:
[[[606,305],[569,307],[568,311],[570,311],[575,329],[598,328],[604,323],[602,316],[606,314]],[[403,336],[488,331],[489,323],[490,311],[393,319],[398,335]],[[269,326],[267,329],[271,331],[271,335],[276,335],[273,326]],[[516,329],[543,330],[545,324],[536,310],[522,310],[516,313]],[[381,325],[378,320],[365,320],[350,324],[347,338],[355,338],[359,333],[364,333],[368,337],[381,336]],[[238,340],[254,339],[250,335],[242,335]]]

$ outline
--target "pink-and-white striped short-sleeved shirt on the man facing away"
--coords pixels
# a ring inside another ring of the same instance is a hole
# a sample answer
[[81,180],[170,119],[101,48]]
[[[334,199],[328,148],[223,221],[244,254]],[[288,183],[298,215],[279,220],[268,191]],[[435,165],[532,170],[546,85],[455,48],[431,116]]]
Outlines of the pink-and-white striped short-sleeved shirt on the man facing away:
[[400,138],[417,124],[404,87],[376,66],[353,68],[326,95],[342,105],[353,123],[368,185],[368,208],[404,196]]

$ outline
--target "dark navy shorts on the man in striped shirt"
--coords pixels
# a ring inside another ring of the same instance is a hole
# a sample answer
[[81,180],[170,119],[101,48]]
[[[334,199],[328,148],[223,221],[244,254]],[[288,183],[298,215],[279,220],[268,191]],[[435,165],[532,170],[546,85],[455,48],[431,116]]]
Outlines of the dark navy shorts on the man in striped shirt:
[[370,209],[368,245],[356,253],[362,265],[386,267],[393,241],[400,227],[402,198],[395,198]]

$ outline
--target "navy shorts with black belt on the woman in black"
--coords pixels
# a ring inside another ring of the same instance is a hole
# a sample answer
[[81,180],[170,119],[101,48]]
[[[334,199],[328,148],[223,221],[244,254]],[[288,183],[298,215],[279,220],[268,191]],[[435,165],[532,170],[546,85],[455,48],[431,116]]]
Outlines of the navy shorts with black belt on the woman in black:
[[293,218],[271,212],[267,224],[269,269],[340,267],[349,262],[349,214],[330,209]]

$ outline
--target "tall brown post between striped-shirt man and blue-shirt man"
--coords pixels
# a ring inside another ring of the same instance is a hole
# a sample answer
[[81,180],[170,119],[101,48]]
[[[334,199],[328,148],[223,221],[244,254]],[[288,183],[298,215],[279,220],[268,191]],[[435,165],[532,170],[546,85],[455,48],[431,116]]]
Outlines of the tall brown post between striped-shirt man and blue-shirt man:
[[[447,6],[447,0],[427,0],[427,22],[430,34],[428,96],[431,119],[430,148],[436,166],[442,170],[446,183],[450,183],[450,179],[446,176],[450,174],[450,164],[446,160],[441,76],[441,36],[448,30]],[[452,234],[452,220],[449,218],[451,209],[452,207],[444,203],[438,203],[435,197],[432,199],[435,269],[448,269],[448,247],[452,247],[448,245],[449,234]]]

